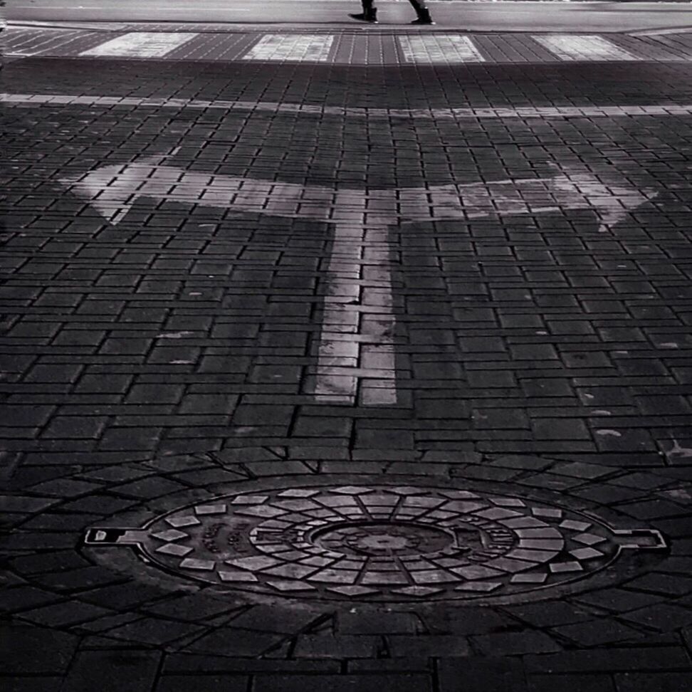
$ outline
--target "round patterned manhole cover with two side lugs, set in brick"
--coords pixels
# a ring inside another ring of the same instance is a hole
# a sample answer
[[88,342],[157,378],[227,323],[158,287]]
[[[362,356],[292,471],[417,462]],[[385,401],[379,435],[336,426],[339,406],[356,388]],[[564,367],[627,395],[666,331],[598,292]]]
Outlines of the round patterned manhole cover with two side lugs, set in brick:
[[167,572],[260,594],[320,599],[518,597],[603,570],[655,530],[575,510],[436,486],[296,485],[220,496],[142,528],[91,528]]

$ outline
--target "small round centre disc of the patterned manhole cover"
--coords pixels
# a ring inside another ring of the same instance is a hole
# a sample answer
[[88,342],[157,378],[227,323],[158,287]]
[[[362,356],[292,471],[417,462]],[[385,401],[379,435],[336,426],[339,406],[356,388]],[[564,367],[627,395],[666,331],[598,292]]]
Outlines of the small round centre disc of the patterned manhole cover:
[[424,555],[454,545],[454,533],[404,522],[347,523],[316,531],[310,540],[345,555]]

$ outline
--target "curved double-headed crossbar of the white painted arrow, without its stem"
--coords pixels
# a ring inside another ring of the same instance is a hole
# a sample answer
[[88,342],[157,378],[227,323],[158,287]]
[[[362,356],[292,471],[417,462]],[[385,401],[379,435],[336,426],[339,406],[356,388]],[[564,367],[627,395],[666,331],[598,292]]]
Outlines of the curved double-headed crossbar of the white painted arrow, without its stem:
[[331,224],[359,218],[367,226],[594,209],[603,229],[653,196],[631,187],[604,184],[585,173],[366,192],[191,172],[160,161],[160,157],[150,157],[103,166],[61,182],[90,199],[112,224],[122,221],[137,199],[150,197]]

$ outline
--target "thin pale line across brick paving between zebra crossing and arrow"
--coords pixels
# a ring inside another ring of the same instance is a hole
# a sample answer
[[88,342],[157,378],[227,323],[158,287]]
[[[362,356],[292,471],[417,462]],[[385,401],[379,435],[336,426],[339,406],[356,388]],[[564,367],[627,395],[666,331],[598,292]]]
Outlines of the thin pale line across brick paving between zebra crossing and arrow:
[[481,118],[561,118],[561,117],[639,117],[692,115],[692,104],[608,105],[608,106],[520,106],[519,108],[352,108],[276,103],[274,101],[205,101],[186,98],[137,98],[133,96],[81,96],[76,94],[8,94],[0,93],[6,106],[31,108],[33,105],[87,105],[102,108],[196,108],[201,110],[241,110],[303,115],[336,115],[389,120],[479,120]]

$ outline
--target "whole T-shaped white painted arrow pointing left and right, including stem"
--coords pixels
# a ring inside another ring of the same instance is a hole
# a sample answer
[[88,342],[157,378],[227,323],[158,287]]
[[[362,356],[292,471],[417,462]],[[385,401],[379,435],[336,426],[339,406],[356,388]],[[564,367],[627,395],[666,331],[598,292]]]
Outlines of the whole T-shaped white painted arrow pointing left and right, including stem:
[[[364,191],[191,172],[161,162],[161,157],[147,157],[61,182],[114,225],[140,197],[334,224],[314,394],[320,401],[348,404],[355,402],[359,379],[365,382],[362,404],[397,402],[389,226],[592,209],[599,231],[607,231],[655,196],[607,185],[586,173]],[[364,321],[359,304],[365,284],[362,260],[365,248],[372,259],[373,246],[379,249],[379,267],[368,285],[372,288],[376,280],[379,306],[377,320]]]

